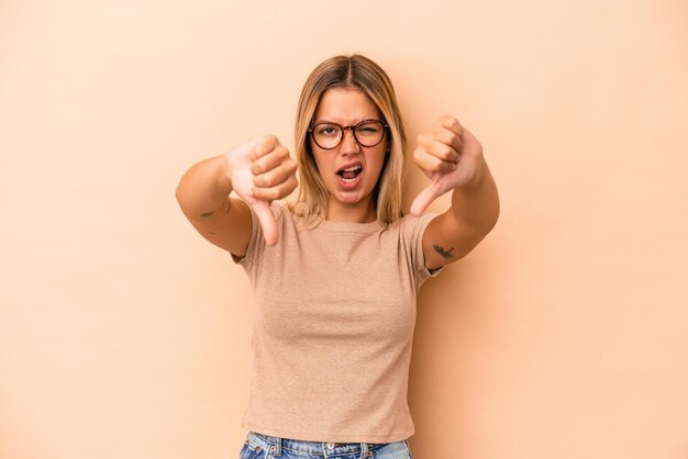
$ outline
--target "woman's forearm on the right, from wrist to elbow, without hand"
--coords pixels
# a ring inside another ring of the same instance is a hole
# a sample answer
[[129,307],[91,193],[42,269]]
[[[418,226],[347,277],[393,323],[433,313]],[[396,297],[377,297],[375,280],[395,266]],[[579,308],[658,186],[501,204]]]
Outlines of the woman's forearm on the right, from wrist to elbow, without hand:
[[499,194],[485,158],[478,161],[473,179],[454,189],[451,211],[460,227],[480,238],[495,227],[499,217]]

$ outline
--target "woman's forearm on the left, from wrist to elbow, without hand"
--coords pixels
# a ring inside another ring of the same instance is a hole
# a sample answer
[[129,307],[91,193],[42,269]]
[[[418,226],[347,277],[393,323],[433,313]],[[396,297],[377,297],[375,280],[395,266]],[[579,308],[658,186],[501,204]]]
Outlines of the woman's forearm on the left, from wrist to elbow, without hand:
[[212,215],[226,205],[232,182],[224,155],[193,165],[179,180],[176,198],[187,219],[195,221]]

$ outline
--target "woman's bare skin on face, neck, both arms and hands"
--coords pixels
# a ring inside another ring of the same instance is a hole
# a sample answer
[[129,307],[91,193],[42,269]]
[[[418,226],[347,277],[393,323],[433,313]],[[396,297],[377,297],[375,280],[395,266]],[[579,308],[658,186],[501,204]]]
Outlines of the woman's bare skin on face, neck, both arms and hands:
[[[380,119],[375,104],[359,90],[328,90],[315,112],[315,122],[342,125]],[[358,145],[349,130],[333,150],[312,145],[328,191],[328,220],[371,222],[371,192],[382,168],[387,141],[375,147]],[[482,146],[451,115],[443,115],[417,139],[415,165],[431,182],[413,201],[411,213],[420,215],[437,197],[452,191],[452,205],[433,219],[423,234],[429,269],[454,262],[468,254],[495,226],[499,198]],[[336,171],[345,165],[363,166],[358,184],[345,190]],[[191,167],[177,187],[177,200],[197,231],[211,243],[242,257],[251,238],[251,211],[258,216],[268,245],[278,238],[269,203],[288,197],[297,187],[296,161],[277,137],[266,135],[208,158]],[[234,191],[241,199],[229,198]]]

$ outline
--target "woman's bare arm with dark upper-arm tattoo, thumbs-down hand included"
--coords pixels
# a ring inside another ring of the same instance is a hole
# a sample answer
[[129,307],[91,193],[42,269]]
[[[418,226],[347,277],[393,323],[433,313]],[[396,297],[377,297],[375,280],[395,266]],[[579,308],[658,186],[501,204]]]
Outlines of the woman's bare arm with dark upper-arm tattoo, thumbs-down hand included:
[[432,183],[413,202],[413,214],[453,190],[451,208],[423,234],[425,266],[433,269],[463,258],[487,236],[499,217],[499,195],[480,143],[452,116],[419,136],[414,159]]

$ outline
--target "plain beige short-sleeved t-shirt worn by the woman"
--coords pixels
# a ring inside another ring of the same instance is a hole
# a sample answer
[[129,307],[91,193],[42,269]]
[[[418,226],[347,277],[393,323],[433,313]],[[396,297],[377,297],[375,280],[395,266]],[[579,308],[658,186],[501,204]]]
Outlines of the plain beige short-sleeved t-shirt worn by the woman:
[[242,426],[310,441],[407,439],[415,432],[407,402],[415,294],[440,271],[424,266],[422,235],[436,214],[306,229],[281,205],[273,212],[278,244],[266,246],[252,214],[238,260],[255,298]]

